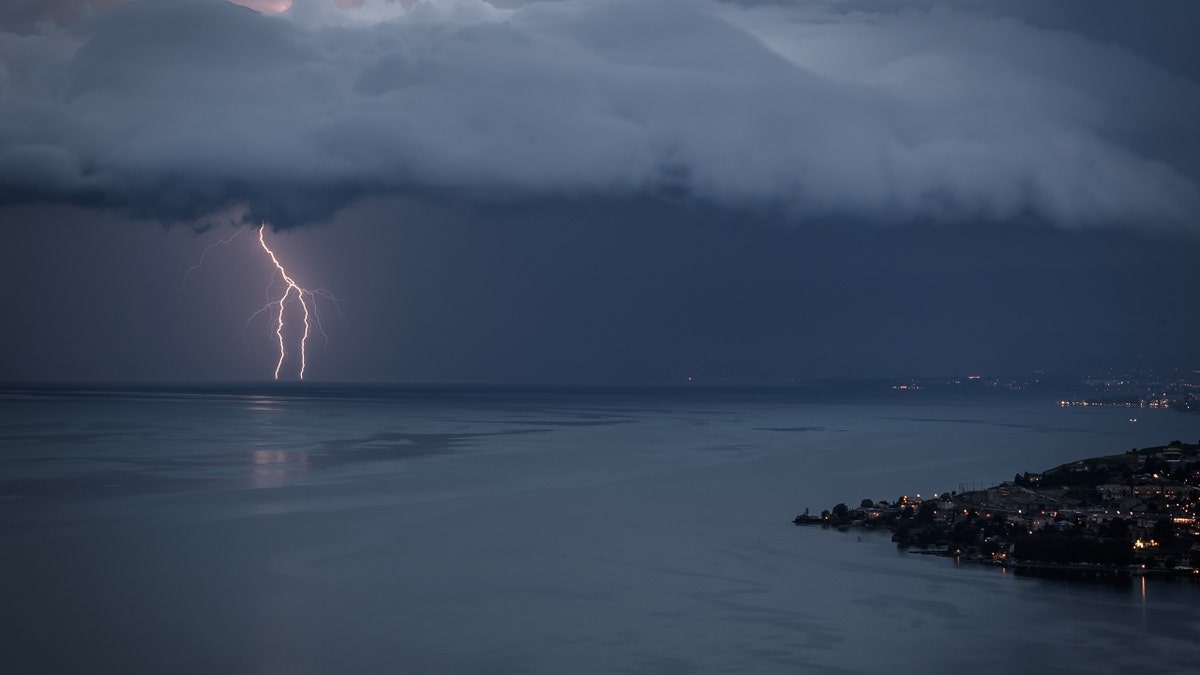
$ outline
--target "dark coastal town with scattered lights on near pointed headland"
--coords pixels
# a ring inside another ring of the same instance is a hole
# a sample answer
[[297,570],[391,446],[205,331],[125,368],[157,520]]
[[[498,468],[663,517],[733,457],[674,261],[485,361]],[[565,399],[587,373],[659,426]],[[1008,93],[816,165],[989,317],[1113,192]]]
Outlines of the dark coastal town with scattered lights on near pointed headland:
[[1022,472],[983,490],[839,503],[796,525],[889,530],[914,552],[1039,575],[1200,579],[1200,443]]

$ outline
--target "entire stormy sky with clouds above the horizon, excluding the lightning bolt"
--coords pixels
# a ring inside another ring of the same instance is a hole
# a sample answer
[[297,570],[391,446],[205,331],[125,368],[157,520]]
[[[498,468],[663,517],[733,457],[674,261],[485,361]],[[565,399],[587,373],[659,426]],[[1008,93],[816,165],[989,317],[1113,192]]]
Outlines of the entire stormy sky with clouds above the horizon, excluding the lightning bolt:
[[264,220],[308,380],[1200,365],[1194,2],[101,5],[0,10],[0,380],[271,378]]

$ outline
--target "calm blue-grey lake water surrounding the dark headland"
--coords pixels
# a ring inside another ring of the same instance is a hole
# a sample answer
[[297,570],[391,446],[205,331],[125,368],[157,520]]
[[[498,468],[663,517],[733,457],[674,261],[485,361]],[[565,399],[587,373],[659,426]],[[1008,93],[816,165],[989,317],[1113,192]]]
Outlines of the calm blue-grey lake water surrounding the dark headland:
[[788,521],[1198,436],[1194,416],[1015,396],[0,390],[0,658],[1192,673],[1189,583],[1016,578]]

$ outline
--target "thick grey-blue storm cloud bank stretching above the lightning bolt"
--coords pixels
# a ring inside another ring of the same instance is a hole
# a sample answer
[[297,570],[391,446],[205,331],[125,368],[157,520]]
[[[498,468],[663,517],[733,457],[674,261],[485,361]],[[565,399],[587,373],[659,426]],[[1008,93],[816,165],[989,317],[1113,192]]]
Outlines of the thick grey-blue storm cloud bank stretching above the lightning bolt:
[[1055,20],[130,2],[0,34],[0,203],[286,226],[373,195],[648,193],[793,219],[1195,228],[1200,88]]

